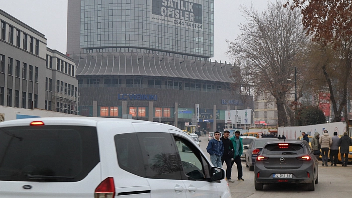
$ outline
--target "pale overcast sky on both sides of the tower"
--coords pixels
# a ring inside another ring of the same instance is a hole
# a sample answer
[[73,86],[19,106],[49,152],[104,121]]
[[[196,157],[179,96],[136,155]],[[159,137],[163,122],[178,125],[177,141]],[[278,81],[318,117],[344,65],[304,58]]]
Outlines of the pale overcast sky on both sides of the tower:
[[[232,62],[226,51],[226,39],[235,40],[245,21],[240,5],[253,4],[258,11],[275,0],[214,0],[214,57],[212,61]],[[0,0],[0,9],[38,30],[47,38],[51,49],[66,52],[67,0]]]

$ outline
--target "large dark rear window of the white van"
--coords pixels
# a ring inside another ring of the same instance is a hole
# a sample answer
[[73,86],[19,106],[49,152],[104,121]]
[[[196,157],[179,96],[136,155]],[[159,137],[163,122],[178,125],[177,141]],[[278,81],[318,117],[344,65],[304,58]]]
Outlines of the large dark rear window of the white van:
[[96,127],[0,128],[0,180],[80,181],[99,161]]

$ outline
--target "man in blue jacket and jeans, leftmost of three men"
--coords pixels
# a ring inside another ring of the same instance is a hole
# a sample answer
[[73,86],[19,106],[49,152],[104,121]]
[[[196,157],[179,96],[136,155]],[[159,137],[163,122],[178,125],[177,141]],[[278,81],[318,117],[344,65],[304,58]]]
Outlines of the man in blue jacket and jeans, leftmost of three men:
[[221,168],[221,157],[224,152],[224,145],[220,140],[220,132],[214,132],[214,138],[209,141],[206,151],[210,154],[211,163]]

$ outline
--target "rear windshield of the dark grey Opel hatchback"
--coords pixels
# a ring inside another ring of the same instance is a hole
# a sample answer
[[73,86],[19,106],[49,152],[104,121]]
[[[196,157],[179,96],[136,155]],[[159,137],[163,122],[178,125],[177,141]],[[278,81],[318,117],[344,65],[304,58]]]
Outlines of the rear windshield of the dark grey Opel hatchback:
[[301,155],[304,153],[301,144],[269,144],[266,145],[263,153],[266,155]]

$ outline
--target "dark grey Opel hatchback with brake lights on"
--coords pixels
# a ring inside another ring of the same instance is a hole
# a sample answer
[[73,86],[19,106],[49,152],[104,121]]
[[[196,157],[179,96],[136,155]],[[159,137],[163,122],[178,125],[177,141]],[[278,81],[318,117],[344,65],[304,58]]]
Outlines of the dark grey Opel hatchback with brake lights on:
[[264,184],[305,183],[310,191],[318,184],[318,159],[306,141],[267,142],[254,164],[254,187]]

